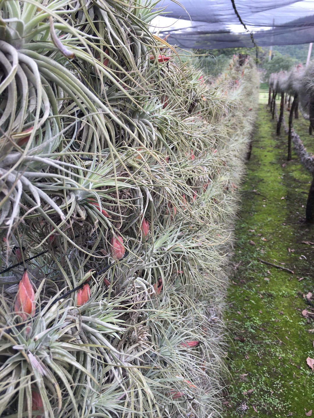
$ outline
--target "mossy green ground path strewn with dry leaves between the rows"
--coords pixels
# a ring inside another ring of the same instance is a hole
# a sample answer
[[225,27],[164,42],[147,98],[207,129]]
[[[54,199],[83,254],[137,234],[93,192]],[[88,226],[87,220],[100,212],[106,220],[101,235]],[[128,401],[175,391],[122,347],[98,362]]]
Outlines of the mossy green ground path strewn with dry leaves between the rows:
[[225,417],[304,417],[311,409],[314,416],[314,373],[306,364],[314,358],[314,321],[302,315],[314,311],[303,296],[314,293],[314,246],[302,243],[314,242],[304,223],[311,176],[296,154],[286,161],[287,135],[282,129],[277,137],[275,127],[260,104],[225,311],[232,376]]

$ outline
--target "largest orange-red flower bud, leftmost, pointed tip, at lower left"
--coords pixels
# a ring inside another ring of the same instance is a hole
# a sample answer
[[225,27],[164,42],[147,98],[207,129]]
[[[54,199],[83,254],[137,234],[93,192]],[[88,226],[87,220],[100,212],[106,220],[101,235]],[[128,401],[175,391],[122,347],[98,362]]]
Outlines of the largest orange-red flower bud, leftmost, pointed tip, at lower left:
[[29,315],[35,315],[35,292],[29,281],[27,270],[24,270],[22,279],[18,284],[14,312],[25,321]]

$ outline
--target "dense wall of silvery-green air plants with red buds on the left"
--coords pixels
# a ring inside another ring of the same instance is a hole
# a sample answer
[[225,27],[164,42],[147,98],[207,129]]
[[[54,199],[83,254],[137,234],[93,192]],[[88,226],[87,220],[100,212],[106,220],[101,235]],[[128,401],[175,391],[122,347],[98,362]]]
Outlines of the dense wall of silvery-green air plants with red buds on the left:
[[258,78],[234,63],[207,84],[150,33],[155,5],[0,2],[3,415],[219,410]]

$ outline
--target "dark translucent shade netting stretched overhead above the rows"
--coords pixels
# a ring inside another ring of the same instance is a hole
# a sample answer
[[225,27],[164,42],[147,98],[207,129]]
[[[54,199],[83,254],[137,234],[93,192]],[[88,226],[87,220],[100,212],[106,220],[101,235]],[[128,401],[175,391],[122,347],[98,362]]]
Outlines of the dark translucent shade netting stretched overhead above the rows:
[[[186,11],[170,0],[163,14],[178,18],[168,41],[181,48],[252,47],[250,33],[245,32],[234,12],[231,0],[181,0]],[[314,1],[235,0],[242,21],[253,32],[257,46],[294,45],[314,41]],[[171,13],[168,13],[171,12]]]

